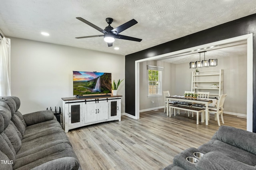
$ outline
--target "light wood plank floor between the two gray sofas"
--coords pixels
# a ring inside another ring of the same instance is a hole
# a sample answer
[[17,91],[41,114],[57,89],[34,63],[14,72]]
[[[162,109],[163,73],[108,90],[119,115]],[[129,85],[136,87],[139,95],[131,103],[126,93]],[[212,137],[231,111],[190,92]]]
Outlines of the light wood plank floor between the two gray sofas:
[[[224,114],[225,125],[246,129],[246,119]],[[221,123],[222,124],[222,123]],[[181,112],[168,117],[159,111],[140,113],[140,119],[122,116],[70,130],[67,135],[84,170],[162,170],[173,157],[208,142],[218,130],[214,115],[209,125]]]

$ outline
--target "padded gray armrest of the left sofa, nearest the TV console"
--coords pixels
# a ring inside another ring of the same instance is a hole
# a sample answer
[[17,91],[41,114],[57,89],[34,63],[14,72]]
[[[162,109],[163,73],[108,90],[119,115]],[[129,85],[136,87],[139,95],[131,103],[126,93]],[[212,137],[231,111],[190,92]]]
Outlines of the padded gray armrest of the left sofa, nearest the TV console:
[[23,115],[26,125],[34,125],[44,121],[54,120],[54,114],[50,110],[36,111]]

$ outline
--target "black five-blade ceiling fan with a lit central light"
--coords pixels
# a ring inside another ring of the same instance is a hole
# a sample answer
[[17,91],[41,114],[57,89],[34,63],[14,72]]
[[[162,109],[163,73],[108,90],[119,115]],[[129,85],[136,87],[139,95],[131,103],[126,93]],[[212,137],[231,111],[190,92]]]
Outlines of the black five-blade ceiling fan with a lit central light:
[[126,30],[127,28],[131,27],[132,25],[135,25],[136,23],[138,23],[134,19],[116,27],[115,29],[110,26],[110,24],[113,22],[112,18],[106,18],[106,22],[108,23],[108,26],[105,29],[101,29],[100,27],[97,27],[96,25],[90,23],[89,21],[84,20],[81,17],[76,17],[76,19],[78,19],[78,20],[90,25],[91,27],[97,29],[98,31],[104,33],[104,35],[92,35],[92,36],[86,36],[86,37],[76,37],[78,39],[80,39],[80,38],[91,38],[91,37],[104,37],[104,41],[106,41],[108,43],[108,47],[112,47],[113,42],[115,41],[115,38],[126,39],[126,40],[130,40],[130,41],[138,41],[138,42],[140,42],[142,40],[142,39],[138,39],[138,38],[134,38],[134,37],[128,37],[126,35],[120,35],[119,34],[120,32]]

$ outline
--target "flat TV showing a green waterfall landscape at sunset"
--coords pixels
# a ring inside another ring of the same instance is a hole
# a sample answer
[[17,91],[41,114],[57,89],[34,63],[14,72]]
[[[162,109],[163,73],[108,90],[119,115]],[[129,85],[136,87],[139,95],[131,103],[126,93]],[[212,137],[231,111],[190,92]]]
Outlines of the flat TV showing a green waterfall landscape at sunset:
[[73,71],[73,95],[111,93],[111,73]]

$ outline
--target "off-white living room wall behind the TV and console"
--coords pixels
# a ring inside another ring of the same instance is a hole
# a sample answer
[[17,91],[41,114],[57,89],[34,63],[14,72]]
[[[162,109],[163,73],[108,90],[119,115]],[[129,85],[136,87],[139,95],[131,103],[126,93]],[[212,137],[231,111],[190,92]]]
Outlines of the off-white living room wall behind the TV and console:
[[[19,39],[11,39],[11,90],[21,100],[22,114],[62,107],[73,97],[72,71],[112,73],[112,80],[125,78],[125,57],[111,53]],[[125,81],[125,80],[124,80]],[[124,81],[118,88],[124,105]],[[62,109],[63,110],[63,109]]]

